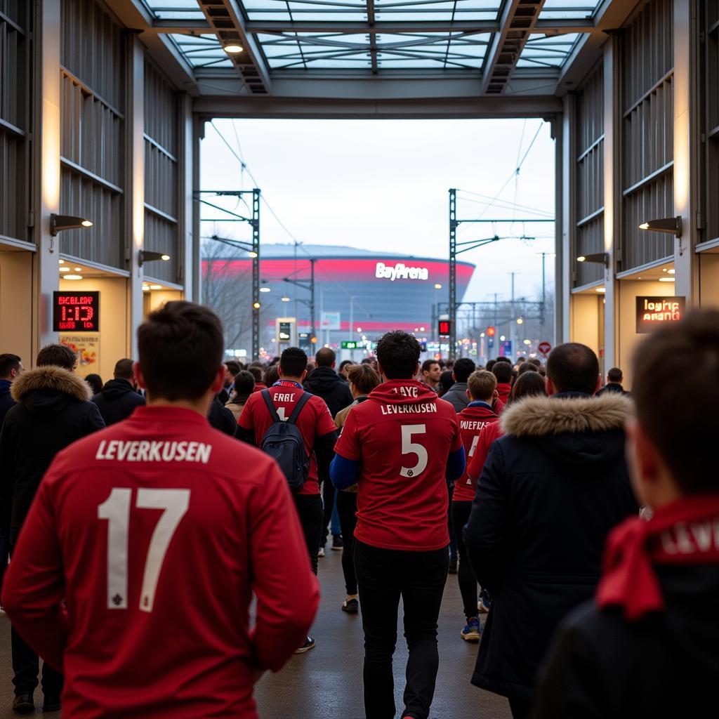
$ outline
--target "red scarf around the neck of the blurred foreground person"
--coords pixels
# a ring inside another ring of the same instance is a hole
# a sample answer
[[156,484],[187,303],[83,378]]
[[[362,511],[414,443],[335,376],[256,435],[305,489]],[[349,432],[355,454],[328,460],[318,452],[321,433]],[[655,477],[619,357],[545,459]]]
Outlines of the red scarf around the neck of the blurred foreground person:
[[654,564],[719,564],[719,494],[684,497],[649,521],[627,519],[609,535],[600,608],[620,606],[628,621],[664,609]]

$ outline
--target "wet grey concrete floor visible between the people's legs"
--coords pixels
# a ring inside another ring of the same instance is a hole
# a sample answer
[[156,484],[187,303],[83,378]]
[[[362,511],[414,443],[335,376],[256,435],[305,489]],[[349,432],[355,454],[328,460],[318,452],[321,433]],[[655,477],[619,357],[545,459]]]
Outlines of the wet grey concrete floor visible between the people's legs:
[[[340,610],[344,600],[342,552],[328,551],[320,559],[322,604],[312,636],[317,645],[295,656],[279,674],[262,677],[255,691],[262,719],[364,719],[362,703],[362,620]],[[288,601],[292,600],[288,593]],[[400,610],[401,611],[401,610]],[[477,645],[459,637],[464,616],[456,575],[450,575],[439,617],[439,675],[431,719],[510,719],[507,700],[472,687],[470,677]],[[407,647],[401,618],[395,652],[395,697],[398,710],[404,689]],[[11,710],[12,661],[10,626],[0,618],[0,719],[17,719]],[[60,719],[59,712],[43,714],[42,692],[35,690],[35,715]],[[229,719],[229,718],[228,718]]]

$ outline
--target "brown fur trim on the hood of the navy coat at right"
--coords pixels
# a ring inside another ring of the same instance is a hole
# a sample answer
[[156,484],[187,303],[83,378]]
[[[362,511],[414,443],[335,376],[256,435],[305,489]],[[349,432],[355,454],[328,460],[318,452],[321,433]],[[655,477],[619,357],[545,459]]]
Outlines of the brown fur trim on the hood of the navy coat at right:
[[600,397],[528,397],[506,409],[502,431],[516,437],[608,432],[623,429],[633,411],[633,401],[616,393]]

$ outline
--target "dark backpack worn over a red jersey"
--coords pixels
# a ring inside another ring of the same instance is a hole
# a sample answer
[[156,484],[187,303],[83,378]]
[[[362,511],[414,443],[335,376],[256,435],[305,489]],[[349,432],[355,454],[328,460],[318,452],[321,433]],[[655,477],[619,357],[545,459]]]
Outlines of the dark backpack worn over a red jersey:
[[262,398],[265,400],[267,410],[270,411],[273,423],[262,437],[260,449],[280,465],[280,470],[287,478],[287,483],[293,492],[299,492],[304,487],[307,475],[310,473],[310,456],[306,452],[305,441],[295,423],[311,396],[309,392],[303,393],[297,400],[290,417],[287,421],[283,421],[275,409],[270,390],[262,390]]

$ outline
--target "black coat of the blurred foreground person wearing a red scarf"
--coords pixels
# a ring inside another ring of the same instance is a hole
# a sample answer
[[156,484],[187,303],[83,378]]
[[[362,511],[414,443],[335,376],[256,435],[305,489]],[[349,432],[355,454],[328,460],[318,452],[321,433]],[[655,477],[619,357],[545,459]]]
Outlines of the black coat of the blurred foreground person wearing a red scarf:
[[619,608],[590,602],[567,618],[541,672],[535,719],[716,714],[719,567],[656,573],[664,611],[628,623]]

